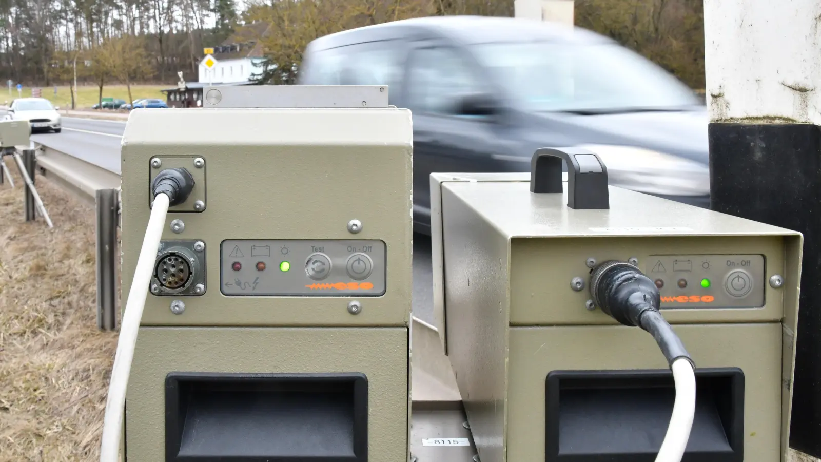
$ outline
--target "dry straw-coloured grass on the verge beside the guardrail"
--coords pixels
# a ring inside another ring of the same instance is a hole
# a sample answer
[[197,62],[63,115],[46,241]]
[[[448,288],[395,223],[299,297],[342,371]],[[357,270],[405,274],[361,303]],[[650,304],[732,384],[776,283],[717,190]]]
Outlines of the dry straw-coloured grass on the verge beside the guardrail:
[[0,186],[0,461],[91,461],[117,335],[97,330],[94,214],[37,178],[54,229]]

